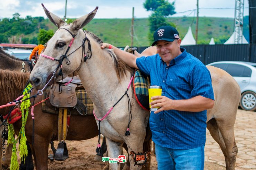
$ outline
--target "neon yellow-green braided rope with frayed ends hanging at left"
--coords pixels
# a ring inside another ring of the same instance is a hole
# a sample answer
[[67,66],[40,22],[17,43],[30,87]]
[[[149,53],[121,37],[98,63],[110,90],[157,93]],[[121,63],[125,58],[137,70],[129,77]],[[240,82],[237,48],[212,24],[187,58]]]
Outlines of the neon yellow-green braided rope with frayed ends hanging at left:
[[[31,88],[32,88],[32,86],[29,83],[27,88],[23,90],[23,94],[26,94]],[[23,99],[26,99],[29,97],[30,97],[30,93],[26,94],[23,97]],[[17,152],[16,144],[17,144],[19,138],[20,138],[19,151],[20,151],[21,161],[23,161],[23,158],[25,160],[26,156],[28,155],[28,148],[26,145],[27,138],[25,136],[25,125],[26,125],[27,118],[28,118],[30,104],[31,104],[30,100],[26,100],[26,101],[22,102],[20,105],[20,110],[21,110],[21,115],[22,115],[21,116],[21,129],[20,129],[17,139],[14,139],[13,125],[8,123],[8,129],[9,129],[8,145],[13,144],[10,170],[18,170],[19,169],[18,157],[16,154],[16,152]],[[26,111],[26,114],[24,115],[25,111]]]

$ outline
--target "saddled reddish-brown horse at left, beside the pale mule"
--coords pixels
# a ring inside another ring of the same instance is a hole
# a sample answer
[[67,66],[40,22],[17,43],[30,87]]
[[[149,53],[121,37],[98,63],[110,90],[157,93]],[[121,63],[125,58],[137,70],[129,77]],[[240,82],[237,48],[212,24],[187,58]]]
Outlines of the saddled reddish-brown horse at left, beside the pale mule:
[[[0,70],[0,104],[6,104],[19,96],[29,78],[29,73],[18,71]],[[36,92],[33,92],[36,93]],[[35,103],[42,101],[38,96]],[[32,100],[31,100],[32,102]],[[2,115],[8,113],[9,108],[0,110]],[[34,144],[32,145],[32,118],[28,115],[25,133],[27,141],[33,152],[37,170],[47,170],[48,146],[50,141],[58,140],[58,115],[42,112],[42,105],[35,106],[35,134]],[[21,128],[21,120],[13,124],[16,135]],[[71,116],[70,126],[67,133],[67,140],[86,140],[97,136],[98,127],[93,115]]]

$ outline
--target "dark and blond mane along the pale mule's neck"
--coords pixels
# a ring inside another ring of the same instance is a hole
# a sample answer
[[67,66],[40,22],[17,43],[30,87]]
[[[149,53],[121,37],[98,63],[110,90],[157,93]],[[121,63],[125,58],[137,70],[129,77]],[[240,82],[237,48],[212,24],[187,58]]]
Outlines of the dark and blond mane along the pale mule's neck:
[[[87,33],[88,35],[90,35],[99,45],[101,43],[103,43],[103,41],[94,33],[89,32],[89,31],[85,31],[85,33]],[[122,61],[114,52],[112,49],[105,49],[111,56],[113,62],[114,62],[114,66],[115,66],[115,70],[116,70],[116,74],[118,77],[118,80],[121,81],[121,78],[126,76],[126,71],[131,72],[132,68],[129,67],[127,64],[125,64],[124,61]]]

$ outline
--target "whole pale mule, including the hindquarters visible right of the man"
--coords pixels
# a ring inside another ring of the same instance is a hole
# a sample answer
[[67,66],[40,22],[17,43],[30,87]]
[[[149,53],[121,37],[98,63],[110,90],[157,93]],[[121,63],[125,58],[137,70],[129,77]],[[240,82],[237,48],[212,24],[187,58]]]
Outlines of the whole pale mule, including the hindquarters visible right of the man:
[[[81,30],[92,20],[97,8],[71,24],[43,8],[50,21],[59,29],[47,43],[31,72],[30,82],[33,87],[42,89],[55,71],[55,81],[77,71],[98,118],[104,117],[115,105],[100,123],[100,131],[106,136],[109,157],[117,158],[121,154],[123,143],[127,144],[129,152],[148,151],[148,148],[142,149],[142,145],[146,137],[149,112],[142,110],[136,103],[132,90],[127,90],[132,70],[110,49],[102,50],[101,40],[96,35]],[[208,69],[212,77],[215,105],[207,110],[207,128],[223,151],[226,169],[234,170],[237,155],[234,124],[240,89],[232,76],[224,70],[215,67]],[[130,107],[126,97],[121,99],[126,91],[131,100]],[[129,108],[132,118],[129,119],[130,136],[126,136]],[[149,141],[147,144],[150,146]],[[131,156],[129,158],[131,160]],[[111,163],[109,168],[118,169],[119,164]],[[137,167],[131,166],[131,169]]]

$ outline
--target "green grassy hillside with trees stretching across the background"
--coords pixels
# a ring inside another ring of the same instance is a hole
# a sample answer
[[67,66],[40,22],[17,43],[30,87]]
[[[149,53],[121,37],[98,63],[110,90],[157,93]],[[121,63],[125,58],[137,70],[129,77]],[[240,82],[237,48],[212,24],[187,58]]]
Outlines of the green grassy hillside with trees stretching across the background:
[[[155,17],[135,18],[134,19],[134,37],[133,45],[136,47],[149,46],[153,42],[152,33],[161,25],[172,25],[179,31],[181,39],[191,26],[195,36],[195,18],[194,17],[164,17],[154,12]],[[165,20],[166,19],[166,20]],[[68,19],[68,23],[75,19]],[[149,20],[157,25],[154,29],[149,26]],[[160,21],[158,23],[158,21]],[[210,18],[199,17],[198,25],[198,44],[208,44],[211,37],[214,37],[215,43],[224,43],[233,33],[233,18]],[[131,19],[93,19],[83,30],[95,33],[102,41],[113,44],[118,47],[125,47],[131,44]],[[0,19],[0,43],[9,43],[9,39],[16,36],[16,39],[22,38],[21,43],[39,44],[39,29],[53,30],[51,35],[58,28],[42,16],[20,18],[17,13],[14,18]],[[152,31],[150,31],[152,29]],[[249,19],[244,17],[244,36],[249,41]],[[51,37],[51,36],[50,36]],[[50,38],[49,37],[49,38]],[[48,41],[48,39],[46,41]],[[151,38],[151,39],[150,39]]]

